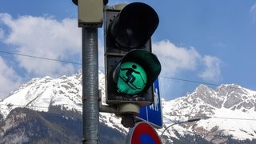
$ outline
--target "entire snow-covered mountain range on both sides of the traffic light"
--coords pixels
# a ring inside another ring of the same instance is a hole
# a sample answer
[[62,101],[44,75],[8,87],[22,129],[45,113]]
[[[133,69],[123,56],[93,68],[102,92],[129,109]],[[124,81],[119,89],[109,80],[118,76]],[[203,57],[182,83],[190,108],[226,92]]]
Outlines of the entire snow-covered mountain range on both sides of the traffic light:
[[[99,89],[105,103],[105,78],[99,72]],[[82,71],[69,77],[34,78],[0,101],[0,119],[11,110],[26,107],[49,112],[53,107],[82,114]],[[256,142],[256,91],[234,84],[212,90],[198,86],[192,94],[171,101],[162,99],[164,126],[158,129],[164,143],[169,142]],[[188,119],[201,118],[198,122]],[[122,134],[129,131],[115,114],[100,113],[99,120]],[[0,122],[1,122],[0,121]],[[186,123],[184,123],[186,122]],[[179,123],[179,124],[178,124]],[[172,125],[172,126],[170,126]],[[7,126],[7,125],[4,125]],[[170,128],[166,131],[166,127]],[[0,127],[0,137],[7,127]]]

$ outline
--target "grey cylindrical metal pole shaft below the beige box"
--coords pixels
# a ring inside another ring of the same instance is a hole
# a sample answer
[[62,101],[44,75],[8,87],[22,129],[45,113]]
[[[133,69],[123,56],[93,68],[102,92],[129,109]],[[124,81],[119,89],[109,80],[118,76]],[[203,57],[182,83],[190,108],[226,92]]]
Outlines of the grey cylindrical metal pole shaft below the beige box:
[[82,143],[98,143],[98,28],[82,27]]

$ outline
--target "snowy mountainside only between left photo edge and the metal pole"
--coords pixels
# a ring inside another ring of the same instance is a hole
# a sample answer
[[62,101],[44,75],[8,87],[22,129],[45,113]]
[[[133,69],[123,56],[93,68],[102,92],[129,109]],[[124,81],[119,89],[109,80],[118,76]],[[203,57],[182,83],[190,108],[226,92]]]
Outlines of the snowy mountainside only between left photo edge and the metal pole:
[[81,87],[82,74],[61,78],[33,78],[10,94],[1,102],[4,118],[16,107],[28,107],[33,110],[48,111],[49,106],[62,106],[66,110],[82,111]]

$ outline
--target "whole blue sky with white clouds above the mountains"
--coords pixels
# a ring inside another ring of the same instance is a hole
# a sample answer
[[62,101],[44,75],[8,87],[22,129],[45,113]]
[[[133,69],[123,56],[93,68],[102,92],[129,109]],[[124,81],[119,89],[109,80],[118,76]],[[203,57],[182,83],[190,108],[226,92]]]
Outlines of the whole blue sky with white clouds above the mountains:
[[[178,98],[201,83],[234,83],[256,90],[256,1],[163,0],[145,2],[157,11],[153,51],[162,63],[162,97]],[[0,5],[0,98],[31,78],[74,74],[81,65],[81,29],[71,0],[2,1]],[[98,30],[99,69],[104,70],[103,29]],[[6,52],[15,54],[6,54]]]

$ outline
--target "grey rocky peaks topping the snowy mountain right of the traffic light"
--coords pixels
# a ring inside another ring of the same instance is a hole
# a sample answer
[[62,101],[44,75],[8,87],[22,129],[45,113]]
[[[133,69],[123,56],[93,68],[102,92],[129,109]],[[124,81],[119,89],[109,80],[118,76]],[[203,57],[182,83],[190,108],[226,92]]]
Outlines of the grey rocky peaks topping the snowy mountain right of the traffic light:
[[200,85],[190,95],[192,98],[200,98],[203,102],[216,108],[224,107],[234,110],[244,107],[250,109],[256,104],[254,91],[235,84],[220,85],[216,90]]

